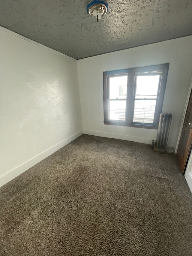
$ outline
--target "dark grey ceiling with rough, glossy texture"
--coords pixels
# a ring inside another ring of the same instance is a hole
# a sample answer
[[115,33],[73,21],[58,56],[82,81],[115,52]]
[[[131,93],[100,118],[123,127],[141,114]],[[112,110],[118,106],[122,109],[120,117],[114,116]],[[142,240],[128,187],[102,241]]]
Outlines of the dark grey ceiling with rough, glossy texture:
[[192,0],[108,0],[97,22],[89,0],[2,0],[0,25],[82,59],[192,34]]

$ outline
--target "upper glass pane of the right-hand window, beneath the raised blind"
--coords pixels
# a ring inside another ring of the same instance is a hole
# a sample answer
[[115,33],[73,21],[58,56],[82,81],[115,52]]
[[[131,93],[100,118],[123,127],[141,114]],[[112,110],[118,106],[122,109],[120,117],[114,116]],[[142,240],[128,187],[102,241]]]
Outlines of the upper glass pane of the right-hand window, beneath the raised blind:
[[160,76],[138,76],[135,98],[157,98],[159,77]]

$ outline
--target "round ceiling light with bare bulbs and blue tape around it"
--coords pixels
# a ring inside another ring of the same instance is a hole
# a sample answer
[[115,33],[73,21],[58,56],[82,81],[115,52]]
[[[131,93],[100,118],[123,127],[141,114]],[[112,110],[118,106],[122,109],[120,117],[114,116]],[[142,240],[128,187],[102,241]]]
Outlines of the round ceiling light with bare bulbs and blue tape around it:
[[108,11],[108,3],[105,0],[92,0],[87,4],[87,12],[91,17],[101,19]]

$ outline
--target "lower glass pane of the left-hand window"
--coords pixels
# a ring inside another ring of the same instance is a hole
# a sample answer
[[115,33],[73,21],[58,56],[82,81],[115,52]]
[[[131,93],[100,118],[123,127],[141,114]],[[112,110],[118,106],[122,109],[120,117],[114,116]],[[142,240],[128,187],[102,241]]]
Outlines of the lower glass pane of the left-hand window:
[[125,121],[126,101],[109,101],[109,119]]

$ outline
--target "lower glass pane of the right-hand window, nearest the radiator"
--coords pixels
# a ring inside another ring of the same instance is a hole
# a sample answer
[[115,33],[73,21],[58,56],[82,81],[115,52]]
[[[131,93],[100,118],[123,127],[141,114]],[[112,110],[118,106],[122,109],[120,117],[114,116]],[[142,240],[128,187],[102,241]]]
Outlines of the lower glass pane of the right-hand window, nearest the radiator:
[[156,100],[135,100],[133,122],[150,123],[154,121]]

